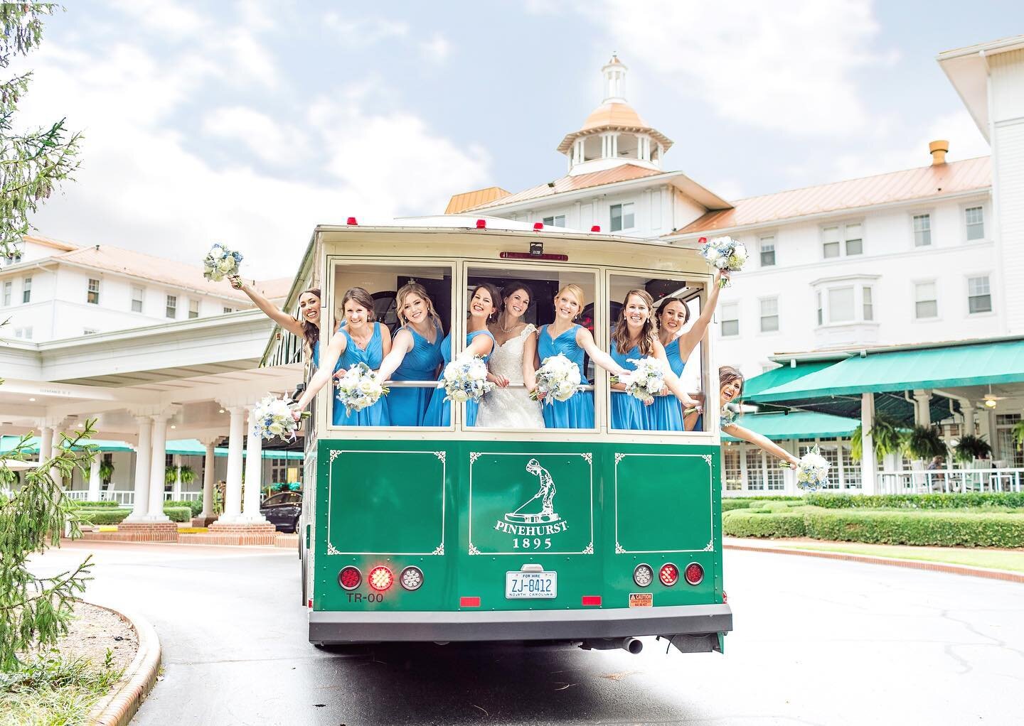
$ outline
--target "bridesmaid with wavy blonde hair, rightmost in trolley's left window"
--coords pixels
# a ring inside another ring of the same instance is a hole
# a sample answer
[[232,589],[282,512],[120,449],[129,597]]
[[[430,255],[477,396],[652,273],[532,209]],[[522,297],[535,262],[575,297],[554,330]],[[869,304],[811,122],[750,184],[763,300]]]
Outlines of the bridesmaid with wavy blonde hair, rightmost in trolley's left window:
[[[407,282],[395,294],[400,327],[394,333],[391,353],[378,371],[382,380],[436,380],[441,364],[440,317],[426,288]],[[387,395],[392,426],[422,426],[432,388],[393,388]]]

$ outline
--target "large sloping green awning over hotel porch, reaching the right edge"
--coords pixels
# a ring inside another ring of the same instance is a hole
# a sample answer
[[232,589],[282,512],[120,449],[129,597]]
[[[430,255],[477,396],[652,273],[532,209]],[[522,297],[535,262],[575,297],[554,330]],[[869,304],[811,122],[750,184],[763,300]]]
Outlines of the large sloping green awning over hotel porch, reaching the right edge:
[[863,358],[847,358],[810,375],[763,390],[756,397],[744,398],[772,403],[1021,381],[1024,381],[1024,339],[1016,339],[869,352]]

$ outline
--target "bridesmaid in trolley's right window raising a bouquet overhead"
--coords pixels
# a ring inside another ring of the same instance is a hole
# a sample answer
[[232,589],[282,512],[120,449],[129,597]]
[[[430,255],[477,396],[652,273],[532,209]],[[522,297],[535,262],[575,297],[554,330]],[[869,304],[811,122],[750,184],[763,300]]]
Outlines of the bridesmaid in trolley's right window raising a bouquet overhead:
[[[703,339],[708,326],[715,316],[715,308],[718,306],[718,296],[722,291],[719,281],[722,279],[722,271],[715,274],[715,281],[712,283],[711,292],[708,293],[708,302],[700,317],[696,319],[686,332],[680,334],[680,330],[690,321],[690,309],[686,307],[679,298],[666,298],[658,308],[657,317],[657,337],[665,346],[665,355],[669,359],[669,366],[672,372],[682,376],[686,361],[690,354]],[[675,398],[669,396],[658,396],[654,403],[647,409],[649,427],[660,432],[681,432],[683,430],[683,407]]]

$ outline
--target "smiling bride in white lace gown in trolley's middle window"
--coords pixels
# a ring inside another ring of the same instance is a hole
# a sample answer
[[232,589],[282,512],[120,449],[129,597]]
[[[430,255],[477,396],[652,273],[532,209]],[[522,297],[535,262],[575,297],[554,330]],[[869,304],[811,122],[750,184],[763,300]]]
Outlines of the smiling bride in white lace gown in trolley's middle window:
[[529,400],[529,391],[537,385],[534,377],[537,326],[522,319],[529,309],[529,300],[530,290],[522,282],[513,282],[502,290],[501,314],[488,325],[498,345],[490,354],[487,377],[498,383],[498,388],[480,401],[477,426],[544,427],[541,404]]

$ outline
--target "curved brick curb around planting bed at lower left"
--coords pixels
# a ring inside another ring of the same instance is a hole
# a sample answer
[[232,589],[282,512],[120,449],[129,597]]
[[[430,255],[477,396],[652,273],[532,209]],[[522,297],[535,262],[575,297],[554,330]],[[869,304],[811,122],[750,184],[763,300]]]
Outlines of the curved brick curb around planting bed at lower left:
[[101,726],[126,726],[157,682],[161,657],[160,638],[150,621],[135,612],[129,610],[126,615],[105,605],[96,606],[110,610],[135,630],[138,651],[114,689],[92,707],[86,721]]

